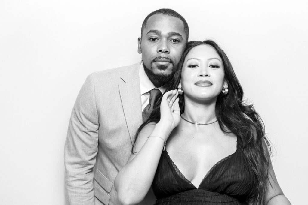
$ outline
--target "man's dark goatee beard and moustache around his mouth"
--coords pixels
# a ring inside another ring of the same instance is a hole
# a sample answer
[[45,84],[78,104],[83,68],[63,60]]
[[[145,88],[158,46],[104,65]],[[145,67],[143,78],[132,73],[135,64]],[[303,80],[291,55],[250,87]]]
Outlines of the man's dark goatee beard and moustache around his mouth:
[[[153,65],[155,60],[156,60],[156,58],[151,61],[151,68],[147,68],[143,64],[143,68],[144,68],[144,71],[147,74],[147,76],[154,81],[159,81],[159,82],[162,82],[162,83],[166,83],[166,82],[170,81],[172,76],[173,76],[173,72],[174,72],[174,62],[171,59],[169,59],[172,63],[172,72],[170,74],[154,73],[152,65]],[[166,70],[166,69],[168,69],[168,65],[158,65],[157,69],[158,70]]]

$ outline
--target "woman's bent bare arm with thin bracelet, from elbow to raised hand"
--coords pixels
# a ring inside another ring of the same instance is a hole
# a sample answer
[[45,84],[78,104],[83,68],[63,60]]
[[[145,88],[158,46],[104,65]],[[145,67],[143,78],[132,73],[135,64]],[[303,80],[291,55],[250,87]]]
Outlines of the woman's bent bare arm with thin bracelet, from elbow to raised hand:
[[176,90],[165,93],[160,103],[160,121],[147,124],[139,132],[135,153],[115,178],[114,186],[121,203],[140,203],[151,187],[168,136],[180,123],[177,96]]

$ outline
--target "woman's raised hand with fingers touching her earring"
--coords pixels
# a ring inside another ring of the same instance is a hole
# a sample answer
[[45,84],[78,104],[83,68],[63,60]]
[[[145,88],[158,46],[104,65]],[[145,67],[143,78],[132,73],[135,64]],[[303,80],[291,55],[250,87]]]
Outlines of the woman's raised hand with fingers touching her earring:
[[180,106],[177,90],[170,90],[165,93],[160,103],[160,122],[170,123],[173,130],[180,123]]

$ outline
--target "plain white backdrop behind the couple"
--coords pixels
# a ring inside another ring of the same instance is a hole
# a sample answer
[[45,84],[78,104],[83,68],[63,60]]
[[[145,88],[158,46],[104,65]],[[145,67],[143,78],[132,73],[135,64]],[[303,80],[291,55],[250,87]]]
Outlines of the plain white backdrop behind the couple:
[[0,2],[0,204],[64,204],[63,148],[88,74],[140,61],[137,38],[153,10],[187,20],[189,40],[216,40],[264,119],[285,195],[307,191],[305,1]]

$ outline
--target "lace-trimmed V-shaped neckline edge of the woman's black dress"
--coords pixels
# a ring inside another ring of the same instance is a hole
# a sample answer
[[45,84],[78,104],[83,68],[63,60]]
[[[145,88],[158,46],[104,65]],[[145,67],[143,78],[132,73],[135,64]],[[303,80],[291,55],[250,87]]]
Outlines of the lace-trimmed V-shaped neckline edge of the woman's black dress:
[[171,157],[169,156],[167,150],[165,149],[165,153],[168,157],[168,159],[170,160],[170,162],[172,163],[172,168],[176,171],[177,175],[180,176],[181,179],[184,179],[184,181],[186,181],[187,183],[189,183],[190,185],[192,185],[195,189],[200,189],[200,186],[202,185],[202,183],[205,181],[205,179],[207,178],[207,176],[212,172],[212,170],[217,167],[219,164],[221,164],[222,162],[228,160],[229,158],[231,158],[238,150],[238,137],[237,137],[237,142],[236,142],[236,150],[235,152],[233,152],[232,154],[222,158],[221,160],[219,160],[218,162],[216,162],[212,168],[209,169],[209,171],[205,174],[205,176],[203,177],[203,179],[201,180],[200,184],[198,187],[196,187],[191,181],[189,181],[184,175],[183,173],[180,171],[180,169],[176,166],[176,164],[173,162],[173,160],[171,159]]

